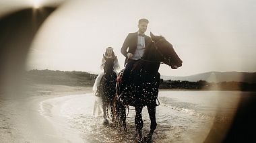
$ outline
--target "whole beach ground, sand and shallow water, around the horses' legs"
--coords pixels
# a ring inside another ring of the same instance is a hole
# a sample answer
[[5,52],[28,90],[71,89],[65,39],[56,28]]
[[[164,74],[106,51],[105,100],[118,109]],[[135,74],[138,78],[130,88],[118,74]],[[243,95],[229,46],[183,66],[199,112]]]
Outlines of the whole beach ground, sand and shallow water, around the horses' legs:
[[[203,142],[214,123],[222,136],[236,111],[238,91],[160,91],[156,107],[158,126],[153,142]],[[134,107],[127,116],[127,134],[104,126],[93,115],[92,87],[32,85],[26,96],[0,100],[1,142],[133,142]],[[150,130],[143,108],[143,136]]]

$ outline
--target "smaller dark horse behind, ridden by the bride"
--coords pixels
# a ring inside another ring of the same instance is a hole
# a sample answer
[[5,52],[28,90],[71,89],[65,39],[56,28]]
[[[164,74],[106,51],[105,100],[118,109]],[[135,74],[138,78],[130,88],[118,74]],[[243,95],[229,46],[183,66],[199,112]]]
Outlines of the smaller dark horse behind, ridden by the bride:
[[[104,54],[103,54],[104,56]],[[113,71],[114,70],[114,61],[117,59],[117,56],[113,58],[106,58],[104,56],[104,75],[100,80],[100,97],[102,98],[102,109],[103,109],[103,118],[104,124],[108,123],[106,119],[108,115],[108,109],[111,111],[111,115],[113,115],[113,101],[116,95],[116,79],[117,75]],[[112,117],[113,119],[113,117]]]

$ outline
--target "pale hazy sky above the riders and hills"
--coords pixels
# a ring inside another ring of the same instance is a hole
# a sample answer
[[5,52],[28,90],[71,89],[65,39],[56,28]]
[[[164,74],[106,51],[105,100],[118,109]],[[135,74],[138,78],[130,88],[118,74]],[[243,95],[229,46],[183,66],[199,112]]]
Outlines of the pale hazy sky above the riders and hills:
[[[29,1],[39,7],[49,3]],[[17,6],[14,3],[4,4]],[[27,68],[100,73],[108,46],[114,48],[123,68],[123,41],[129,32],[137,32],[138,19],[147,18],[146,34],[164,36],[183,60],[177,70],[161,64],[161,75],[256,72],[255,13],[253,0],[65,1],[36,34]]]

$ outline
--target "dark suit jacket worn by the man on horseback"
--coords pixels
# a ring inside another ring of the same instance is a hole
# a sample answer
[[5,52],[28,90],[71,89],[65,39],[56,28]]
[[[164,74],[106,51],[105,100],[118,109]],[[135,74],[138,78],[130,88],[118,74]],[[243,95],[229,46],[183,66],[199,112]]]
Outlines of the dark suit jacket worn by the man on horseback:
[[[138,39],[138,33],[129,33],[127,38],[125,38],[125,42],[123,42],[123,46],[121,48],[121,53],[123,54],[123,56],[126,57],[125,59],[125,63],[127,62],[127,54],[128,52],[131,54],[135,53],[135,50],[137,49],[137,39]],[[151,42],[151,38],[149,36],[145,35],[145,47],[148,47],[148,44],[150,44]],[[127,48],[128,48],[128,52],[127,52]]]

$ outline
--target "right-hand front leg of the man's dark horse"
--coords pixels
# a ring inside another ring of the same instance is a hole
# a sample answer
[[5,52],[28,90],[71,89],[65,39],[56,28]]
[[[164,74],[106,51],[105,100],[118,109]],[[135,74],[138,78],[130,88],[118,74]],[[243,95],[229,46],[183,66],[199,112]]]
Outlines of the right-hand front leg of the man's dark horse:
[[148,107],[148,114],[150,115],[150,133],[148,134],[148,136],[146,138],[144,138],[144,140],[146,142],[152,142],[152,136],[154,131],[156,130],[156,105],[151,105],[151,106],[147,106]]

